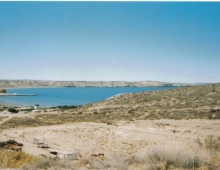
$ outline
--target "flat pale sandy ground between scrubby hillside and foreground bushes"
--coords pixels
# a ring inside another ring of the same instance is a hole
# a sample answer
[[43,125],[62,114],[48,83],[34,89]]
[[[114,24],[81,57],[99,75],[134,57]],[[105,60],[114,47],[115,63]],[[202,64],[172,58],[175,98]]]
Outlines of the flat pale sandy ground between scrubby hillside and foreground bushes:
[[129,155],[157,145],[195,144],[197,139],[220,136],[219,128],[220,120],[120,121],[115,125],[70,123],[5,129],[0,133],[0,141],[21,142],[23,151],[32,155],[49,153],[33,144],[34,137],[43,137],[52,149],[76,151],[82,155],[113,152]]

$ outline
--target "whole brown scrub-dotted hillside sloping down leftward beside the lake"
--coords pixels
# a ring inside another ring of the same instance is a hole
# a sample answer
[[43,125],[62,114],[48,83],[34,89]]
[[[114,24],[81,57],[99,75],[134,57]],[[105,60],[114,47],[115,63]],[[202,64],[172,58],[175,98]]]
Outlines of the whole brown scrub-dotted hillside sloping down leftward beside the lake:
[[146,119],[220,119],[220,84],[181,87],[172,90],[120,94],[109,99],[61,110],[59,114],[43,113],[14,117],[2,128],[41,126],[67,122],[106,122]]

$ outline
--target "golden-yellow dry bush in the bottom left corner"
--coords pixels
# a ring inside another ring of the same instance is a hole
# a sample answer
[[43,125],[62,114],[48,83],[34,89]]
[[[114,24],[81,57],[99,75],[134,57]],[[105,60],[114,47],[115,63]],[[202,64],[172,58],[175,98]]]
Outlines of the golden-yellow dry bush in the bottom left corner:
[[32,160],[33,157],[24,152],[0,152],[0,168],[19,168],[24,164],[30,163]]

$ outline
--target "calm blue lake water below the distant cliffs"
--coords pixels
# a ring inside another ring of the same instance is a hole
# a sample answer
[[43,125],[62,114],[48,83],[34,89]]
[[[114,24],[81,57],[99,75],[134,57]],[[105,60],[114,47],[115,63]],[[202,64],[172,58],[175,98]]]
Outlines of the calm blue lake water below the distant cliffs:
[[36,94],[36,96],[0,96],[0,103],[13,105],[52,107],[82,105],[97,102],[119,93],[165,90],[175,87],[62,87],[7,89],[7,93]]

